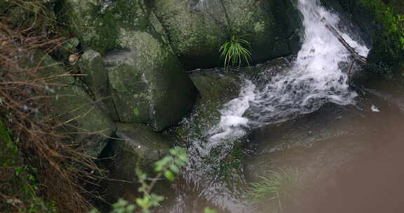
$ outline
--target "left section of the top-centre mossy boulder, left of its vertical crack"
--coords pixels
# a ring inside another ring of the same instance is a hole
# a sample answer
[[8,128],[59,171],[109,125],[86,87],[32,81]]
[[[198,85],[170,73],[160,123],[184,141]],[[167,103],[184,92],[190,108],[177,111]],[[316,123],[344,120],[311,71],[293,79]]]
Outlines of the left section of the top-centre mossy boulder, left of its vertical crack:
[[223,27],[194,9],[188,0],[156,0],[151,4],[185,67],[206,67],[205,63],[220,66],[218,50],[227,39]]

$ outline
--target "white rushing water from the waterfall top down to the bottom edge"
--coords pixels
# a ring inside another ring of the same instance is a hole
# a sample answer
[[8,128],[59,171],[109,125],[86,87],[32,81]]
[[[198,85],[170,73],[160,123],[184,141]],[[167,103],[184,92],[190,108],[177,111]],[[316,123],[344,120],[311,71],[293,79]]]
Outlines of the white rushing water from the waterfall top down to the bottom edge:
[[187,137],[190,160],[183,174],[183,188],[188,189],[177,191],[170,212],[198,212],[189,203],[197,201],[190,200],[231,213],[252,212],[245,202],[242,187],[245,179],[229,172],[225,178],[233,180],[229,182],[217,172],[234,151],[234,144],[250,130],[309,114],[329,102],[355,104],[358,95],[349,90],[344,73],[351,64],[350,53],[325,27],[325,22],[338,29],[359,55],[368,55],[368,48],[341,31],[338,15],[326,11],[319,1],[299,0],[297,7],[302,13],[304,32],[302,49],[295,61],[289,67],[281,67],[283,70],[276,75],[269,69],[255,78],[245,77],[239,97],[220,109],[217,124],[202,128],[198,134],[190,131]]

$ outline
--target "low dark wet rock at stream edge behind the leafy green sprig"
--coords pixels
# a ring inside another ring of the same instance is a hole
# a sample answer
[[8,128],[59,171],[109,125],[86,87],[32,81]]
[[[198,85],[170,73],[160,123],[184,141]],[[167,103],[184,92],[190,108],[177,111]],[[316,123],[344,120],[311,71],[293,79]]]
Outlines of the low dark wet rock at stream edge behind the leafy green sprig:
[[[147,174],[147,179],[156,177],[154,163],[168,155],[173,145],[173,136],[154,132],[143,124],[116,123],[116,139],[109,142],[103,151],[99,166],[109,171],[108,178],[102,179],[97,191],[109,203],[120,198],[136,202],[142,196],[138,191],[139,183],[136,170]],[[116,181],[119,180],[119,181]],[[173,187],[170,181],[159,179],[152,193],[164,196],[164,202],[173,200]],[[165,206],[162,203],[163,206]]]

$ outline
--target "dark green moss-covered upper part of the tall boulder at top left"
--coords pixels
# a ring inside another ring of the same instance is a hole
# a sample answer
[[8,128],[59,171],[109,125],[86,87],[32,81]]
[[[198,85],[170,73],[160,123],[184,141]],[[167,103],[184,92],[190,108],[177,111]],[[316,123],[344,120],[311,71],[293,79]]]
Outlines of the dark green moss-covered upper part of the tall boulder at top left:
[[60,8],[62,19],[79,37],[81,46],[102,55],[109,50],[130,48],[128,39],[138,39],[128,38],[132,36],[131,32],[147,32],[161,41],[166,39],[159,33],[158,23],[149,21],[152,12],[144,0],[65,0]]

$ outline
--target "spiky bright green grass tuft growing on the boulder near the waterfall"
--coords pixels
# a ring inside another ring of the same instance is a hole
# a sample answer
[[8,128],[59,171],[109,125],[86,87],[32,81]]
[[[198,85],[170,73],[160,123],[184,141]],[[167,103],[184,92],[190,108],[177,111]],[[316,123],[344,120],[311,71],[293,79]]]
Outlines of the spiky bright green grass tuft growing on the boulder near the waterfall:
[[243,39],[247,34],[236,36],[232,34],[219,49],[220,58],[224,58],[224,67],[240,67],[244,61],[249,65],[251,60],[250,42]]

